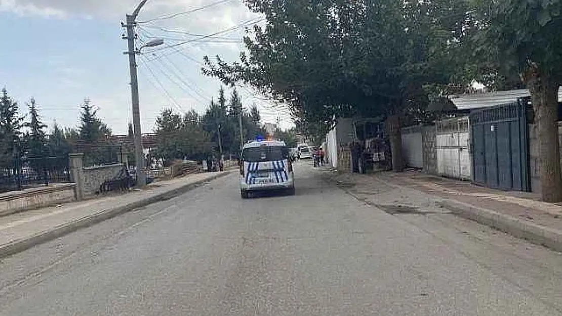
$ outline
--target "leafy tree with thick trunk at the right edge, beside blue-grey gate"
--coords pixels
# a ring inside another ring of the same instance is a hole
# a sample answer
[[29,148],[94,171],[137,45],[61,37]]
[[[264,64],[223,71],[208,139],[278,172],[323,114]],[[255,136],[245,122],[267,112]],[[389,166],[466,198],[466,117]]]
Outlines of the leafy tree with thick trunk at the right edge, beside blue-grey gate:
[[[473,57],[496,74],[520,76],[538,125],[543,201],[562,201],[558,90],[562,84],[562,1],[474,1]],[[482,59],[481,55],[488,57]]]

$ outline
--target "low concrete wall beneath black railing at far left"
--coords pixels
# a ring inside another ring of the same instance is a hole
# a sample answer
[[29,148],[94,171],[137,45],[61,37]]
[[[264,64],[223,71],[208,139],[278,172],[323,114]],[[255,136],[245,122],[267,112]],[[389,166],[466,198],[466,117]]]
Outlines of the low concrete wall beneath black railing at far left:
[[75,184],[52,184],[0,194],[0,216],[76,200]]

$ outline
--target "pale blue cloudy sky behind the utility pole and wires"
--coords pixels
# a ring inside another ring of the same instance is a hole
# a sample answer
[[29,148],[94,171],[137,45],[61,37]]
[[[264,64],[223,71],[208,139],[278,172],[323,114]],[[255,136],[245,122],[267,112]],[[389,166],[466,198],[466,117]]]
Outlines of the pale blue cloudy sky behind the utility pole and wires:
[[[0,0],[0,87],[6,87],[22,113],[35,98],[49,126],[54,121],[78,126],[80,104],[89,98],[114,134],[126,134],[132,110],[121,21],[138,2]],[[236,61],[244,49],[244,25],[260,19],[242,0],[148,0],[138,16],[137,43],[155,38],[165,43],[143,49],[138,59],[143,132],[153,131],[164,108],[203,113],[221,86],[201,73],[203,56]],[[282,128],[292,126],[283,106],[250,87],[238,90],[244,106],[256,104],[264,122],[279,117]]]

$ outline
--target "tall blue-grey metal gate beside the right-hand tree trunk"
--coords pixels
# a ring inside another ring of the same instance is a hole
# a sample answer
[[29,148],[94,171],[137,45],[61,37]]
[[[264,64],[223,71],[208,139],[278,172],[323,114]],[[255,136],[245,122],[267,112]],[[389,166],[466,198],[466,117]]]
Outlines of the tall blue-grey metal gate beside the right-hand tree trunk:
[[531,191],[528,98],[470,113],[474,184]]

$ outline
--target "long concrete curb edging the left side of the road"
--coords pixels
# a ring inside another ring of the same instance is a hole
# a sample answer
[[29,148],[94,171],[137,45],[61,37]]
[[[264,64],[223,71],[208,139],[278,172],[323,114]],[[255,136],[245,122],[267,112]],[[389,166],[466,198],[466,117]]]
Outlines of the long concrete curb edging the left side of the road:
[[97,223],[106,221],[107,219],[130,212],[134,209],[146,207],[147,205],[154,204],[160,201],[169,200],[171,198],[174,198],[175,196],[193,190],[196,187],[200,186],[201,184],[204,184],[205,182],[209,182],[229,174],[230,171],[224,171],[219,175],[214,175],[212,177],[199,180],[155,196],[151,196],[150,198],[138,200],[133,203],[123,205],[121,207],[105,209],[96,214],[92,214],[90,216],[77,219],[76,221],[56,226],[52,230],[43,231],[33,236],[29,236],[26,239],[16,240],[11,242],[10,244],[2,245],[0,246],[0,259],[8,257],[13,254],[20,253],[21,251],[27,250],[35,245],[43,244],[44,242],[67,235],[81,228],[89,227]]

